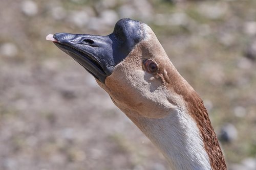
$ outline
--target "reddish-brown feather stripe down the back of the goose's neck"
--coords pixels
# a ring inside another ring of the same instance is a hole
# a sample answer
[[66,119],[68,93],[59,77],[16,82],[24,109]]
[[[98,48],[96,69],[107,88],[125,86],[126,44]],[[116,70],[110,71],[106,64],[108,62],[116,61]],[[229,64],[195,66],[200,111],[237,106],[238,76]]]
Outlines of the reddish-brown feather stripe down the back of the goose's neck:
[[[204,142],[204,148],[208,154],[211,168],[214,170],[227,169],[223,153],[220,148],[214,128],[204,107],[203,101],[196,91],[181,77],[173,67],[166,68],[167,74],[162,75],[162,81],[169,89],[183,96],[188,114],[195,119]],[[179,83],[178,83],[179,82]]]

